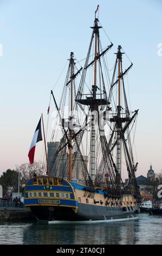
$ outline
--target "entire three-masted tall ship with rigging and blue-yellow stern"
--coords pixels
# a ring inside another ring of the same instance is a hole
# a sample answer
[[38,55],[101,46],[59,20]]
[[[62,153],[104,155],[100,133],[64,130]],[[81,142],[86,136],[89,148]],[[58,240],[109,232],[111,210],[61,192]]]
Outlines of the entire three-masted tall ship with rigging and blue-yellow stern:
[[[46,150],[47,173],[31,178],[24,190],[25,207],[37,220],[115,221],[139,212],[131,135],[138,110],[128,107],[124,79],[133,64],[123,70],[125,52],[119,45],[110,77],[107,63],[113,44],[102,48],[97,13],[83,68],[70,53],[59,105],[51,91],[56,118],[48,154]],[[41,140],[40,124],[33,143]],[[30,152],[34,150],[31,145]]]

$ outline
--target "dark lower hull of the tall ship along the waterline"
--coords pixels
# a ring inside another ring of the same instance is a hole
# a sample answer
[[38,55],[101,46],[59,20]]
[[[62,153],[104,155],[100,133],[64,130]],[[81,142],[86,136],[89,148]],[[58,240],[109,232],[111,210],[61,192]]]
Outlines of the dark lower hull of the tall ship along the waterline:
[[99,221],[99,220],[117,220],[122,218],[136,217],[138,209],[134,207],[133,210],[122,208],[111,208],[107,206],[97,205],[78,205],[78,210],[75,213],[71,208],[53,209],[48,206],[31,206],[31,212],[35,215],[37,220],[42,221]]

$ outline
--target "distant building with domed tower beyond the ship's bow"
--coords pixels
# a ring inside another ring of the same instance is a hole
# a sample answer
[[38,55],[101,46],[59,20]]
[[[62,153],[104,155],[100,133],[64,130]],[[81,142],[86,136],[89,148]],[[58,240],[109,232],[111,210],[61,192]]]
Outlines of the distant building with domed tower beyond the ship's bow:
[[147,172],[147,178],[143,175],[137,177],[137,185],[139,186],[141,198],[153,200],[154,198],[154,181],[155,181],[155,174],[154,170],[152,169],[152,165]]

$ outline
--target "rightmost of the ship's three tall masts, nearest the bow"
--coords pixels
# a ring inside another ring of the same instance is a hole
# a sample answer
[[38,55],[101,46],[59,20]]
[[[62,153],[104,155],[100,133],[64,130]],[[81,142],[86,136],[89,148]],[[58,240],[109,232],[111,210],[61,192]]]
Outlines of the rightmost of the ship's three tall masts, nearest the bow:
[[[112,118],[110,118],[110,121],[114,123],[114,131],[115,134],[116,130],[116,139],[113,143],[113,146],[110,147],[110,151],[113,151],[113,148],[116,145],[116,181],[118,181],[118,184],[121,184],[121,147],[124,149],[124,156],[127,166],[127,172],[128,172],[128,184],[125,186],[125,189],[131,188],[131,184],[133,185],[135,192],[138,191],[137,181],[135,179],[135,172],[137,170],[138,163],[134,163],[133,159],[133,153],[132,153],[132,145],[131,145],[131,138],[130,138],[130,132],[129,132],[129,126],[135,121],[135,118],[137,117],[138,110],[134,111],[133,116],[130,116],[130,111],[128,108],[127,98],[126,98],[126,92],[125,92],[125,85],[124,85],[124,75],[127,73],[127,71],[132,67],[132,63],[129,66],[125,72],[122,71],[122,54],[124,52],[121,52],[121,46],[118,46],[118,52],[116,54],[116,63],[118,62],[118,80],[115,83],[112,83],[112,87],[114,87],[115,84],[118,84],[118,105],[116,106],[116,115],[113,115]],[[114,73],[116,70],[114,69]],[[124,94],[124,102],[125,102],[125,113],[122,111],[124,109],[121,106],[121,84],[122,84],[122,91]],[[125,134],[127,133],[127,138]],[[128,143],[127,143],[128,141]]]

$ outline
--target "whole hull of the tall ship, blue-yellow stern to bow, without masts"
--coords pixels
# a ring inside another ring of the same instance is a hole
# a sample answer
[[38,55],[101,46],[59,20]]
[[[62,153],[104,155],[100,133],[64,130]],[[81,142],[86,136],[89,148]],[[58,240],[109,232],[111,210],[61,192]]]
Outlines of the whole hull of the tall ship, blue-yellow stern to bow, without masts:
[[[50,182],[47,185],[45,182]],[[41,221],[99,221],[136,216],[137,199],[131,194],[108,194],[66,179],[40,176],[25,186],[24,204]]]

